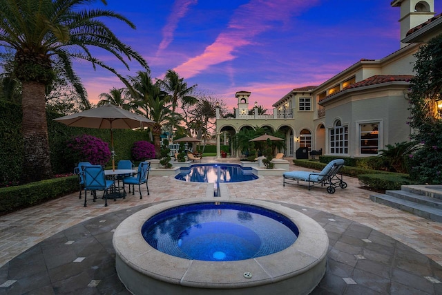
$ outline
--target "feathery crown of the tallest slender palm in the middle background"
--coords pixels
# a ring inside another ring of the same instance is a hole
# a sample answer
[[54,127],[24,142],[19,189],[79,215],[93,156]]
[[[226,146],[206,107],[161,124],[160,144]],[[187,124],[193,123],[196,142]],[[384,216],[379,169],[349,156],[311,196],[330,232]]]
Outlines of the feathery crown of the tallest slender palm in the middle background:
[[192,93],[198,85],[195,84],[188,87],[187,83],[184,82],[184,78],[181,78],[175,70],[168,70],[163,80],[157,79],[157,84],[169,94],[173,112],[175,112],[179,100],[182,105],[195,104],[197,102],[197,99],[192,96]]

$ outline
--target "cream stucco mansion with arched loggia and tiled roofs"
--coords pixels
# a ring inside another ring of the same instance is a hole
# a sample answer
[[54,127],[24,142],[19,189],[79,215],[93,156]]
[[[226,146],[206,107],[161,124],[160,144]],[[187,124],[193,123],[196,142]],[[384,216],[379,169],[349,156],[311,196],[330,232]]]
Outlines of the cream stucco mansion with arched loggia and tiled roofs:
[[434,0],[395,0],[391,6],[401,10],[397,51],[383,59],[361,59],[318,86],[293,89],[273,104],[271,115],[258,115],[249,104],[251,92],[238,91],[235,117],[222,118],[217,111],[218,156],[221,133],[256,126],[285,133],[283,152],[294,158],[305,157],[297,155],[300,148],[343,157],[377,155],[386,144],[409,140],[407,91],[414,53],[442,33],[442,15],[434,16]]

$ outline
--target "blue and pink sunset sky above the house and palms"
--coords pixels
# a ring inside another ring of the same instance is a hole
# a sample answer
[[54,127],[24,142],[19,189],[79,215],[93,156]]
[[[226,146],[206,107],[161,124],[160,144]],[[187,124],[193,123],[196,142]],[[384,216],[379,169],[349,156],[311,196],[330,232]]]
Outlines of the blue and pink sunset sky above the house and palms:
[[[117,37],[148,62],[151,76],[173,69],[233,108],[236,91],[271,108],[293,88],[319,85],[360,59],[381,59],[400,48],[400,8],[390,0],[108,0],[137,26],[109,23]],[[436,14],[441,0],[435,1]],[[104,19],[106,21],[106,19]],[[112,55],[97,57],[125,70]],[[123,84],[107,70],[75,64],[91,102]]]

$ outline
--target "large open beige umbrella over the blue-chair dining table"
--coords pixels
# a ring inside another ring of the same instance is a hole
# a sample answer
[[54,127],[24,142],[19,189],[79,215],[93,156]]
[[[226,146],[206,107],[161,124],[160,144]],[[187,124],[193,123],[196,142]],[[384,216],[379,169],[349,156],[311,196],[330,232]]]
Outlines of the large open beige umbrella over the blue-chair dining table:
[[126,111],[113,104],[105,104],[80,113],[54,119],[54,121],[73,127],[111,129],[112,169],[115,170],[115,151],[113,149],[113,129],[135,129],[153,126],[155,122],[146,117]]

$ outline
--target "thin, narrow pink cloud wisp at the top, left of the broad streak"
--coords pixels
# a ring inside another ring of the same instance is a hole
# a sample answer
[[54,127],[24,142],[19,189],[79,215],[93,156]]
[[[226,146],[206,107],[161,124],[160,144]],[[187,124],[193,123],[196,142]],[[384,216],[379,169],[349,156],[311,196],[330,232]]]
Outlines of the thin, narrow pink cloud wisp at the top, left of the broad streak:
[[198,3],[198,0],[177,0],[173,3],[173,8],[167,19],[166,26],[162,29],[163,39],[160,46],[158,46],[158,52],[164,50],[171,44],[171,41],[173,41],[173,33],[178,26],[178,22],[186,15],[189,6],[196,3]]

